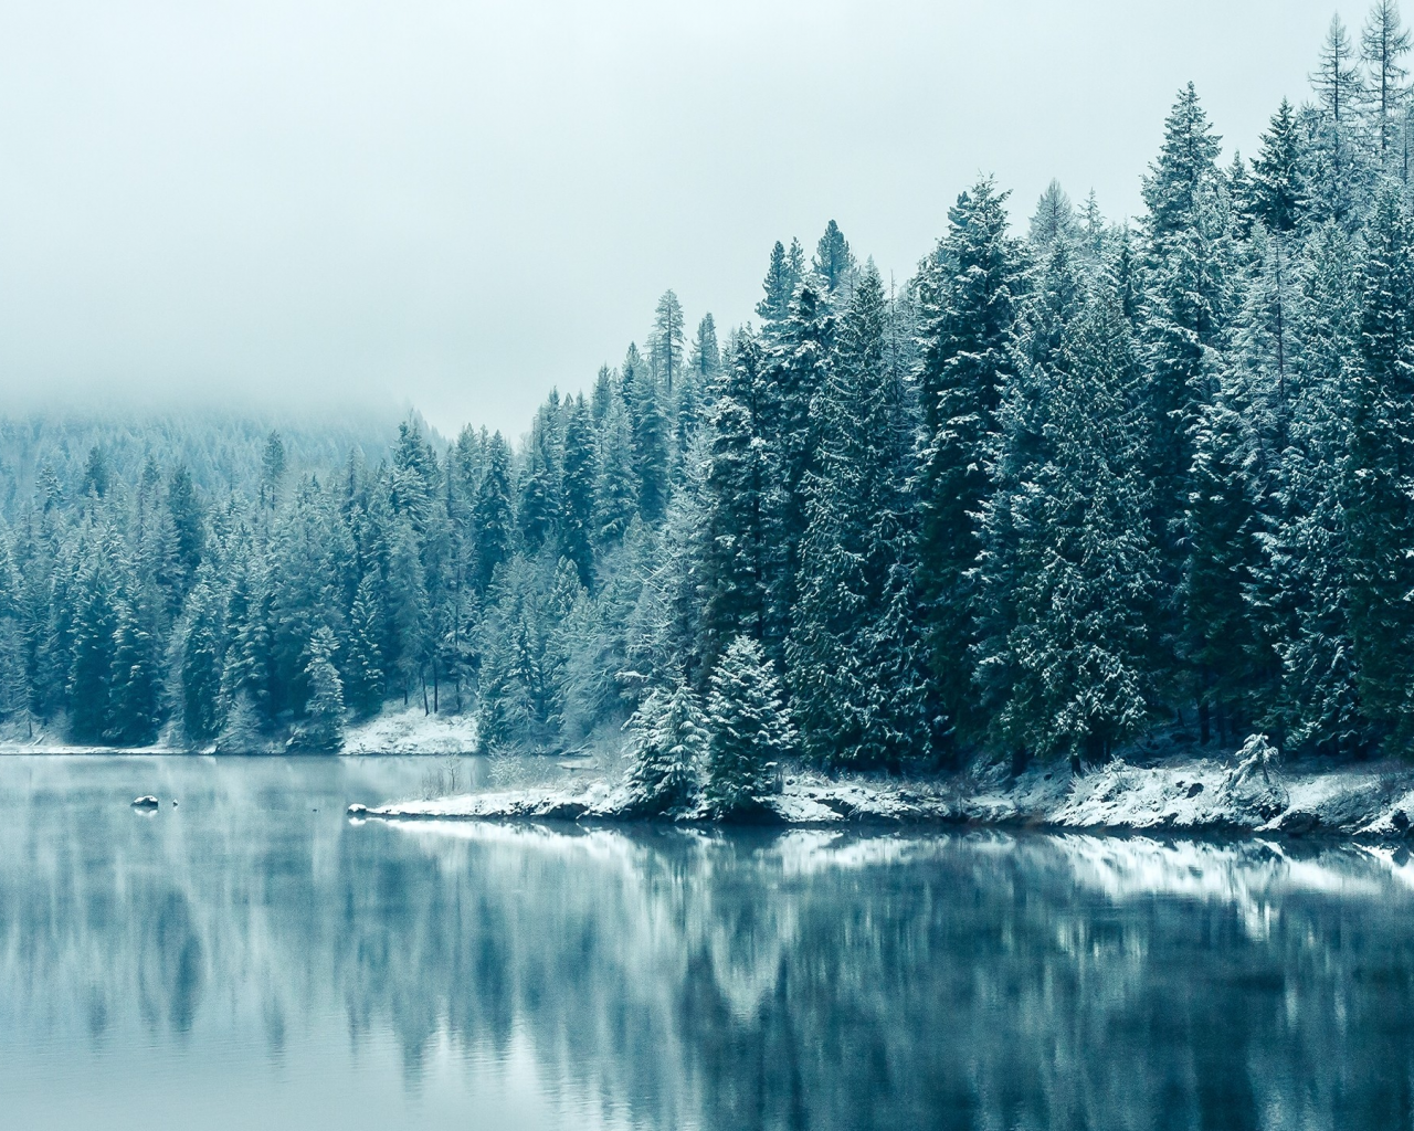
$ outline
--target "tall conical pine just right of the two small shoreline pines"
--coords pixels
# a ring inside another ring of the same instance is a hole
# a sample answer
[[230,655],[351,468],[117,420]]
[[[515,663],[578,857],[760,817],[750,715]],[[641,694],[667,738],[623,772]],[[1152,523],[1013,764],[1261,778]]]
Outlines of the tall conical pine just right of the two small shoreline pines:
[[806,754],[826,765],[896,768],[928,751],[915,621],[913,428],[884,342],[870,263],[844,317],[823,417],[819,472],[786,650]]

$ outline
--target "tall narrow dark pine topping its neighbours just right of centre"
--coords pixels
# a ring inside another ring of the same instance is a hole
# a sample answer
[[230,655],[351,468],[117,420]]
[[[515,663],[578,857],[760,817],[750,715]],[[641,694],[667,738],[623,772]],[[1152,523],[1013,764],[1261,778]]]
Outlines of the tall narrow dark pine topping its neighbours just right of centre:
[[1007,194],[990,180],[962,194],[921,280],[925,327],[919,393],[928,447],[921,474],[919,588],[928,655],[946,725],[977,734],[973,567],[988,491],[986,457],[997,390],[1012,368],[1019,252],[1007,235]]

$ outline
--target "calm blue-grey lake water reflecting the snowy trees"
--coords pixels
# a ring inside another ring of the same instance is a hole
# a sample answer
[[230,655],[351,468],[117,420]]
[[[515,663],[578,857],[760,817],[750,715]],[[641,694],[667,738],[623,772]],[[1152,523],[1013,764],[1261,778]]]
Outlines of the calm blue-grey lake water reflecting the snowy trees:
[[0,1125],[1411,1123],[1403,852],[344,816],[428,765],[0,758]]

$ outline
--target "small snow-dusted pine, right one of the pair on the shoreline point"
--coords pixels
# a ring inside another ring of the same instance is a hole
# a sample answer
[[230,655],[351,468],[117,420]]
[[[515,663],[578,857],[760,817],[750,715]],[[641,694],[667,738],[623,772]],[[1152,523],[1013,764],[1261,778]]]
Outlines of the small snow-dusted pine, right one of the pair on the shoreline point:
[[795,754],[795,727],[761,645],[738,636],[713,670],[707,694],[707,778],[703,795],[718,819],[754,813]]

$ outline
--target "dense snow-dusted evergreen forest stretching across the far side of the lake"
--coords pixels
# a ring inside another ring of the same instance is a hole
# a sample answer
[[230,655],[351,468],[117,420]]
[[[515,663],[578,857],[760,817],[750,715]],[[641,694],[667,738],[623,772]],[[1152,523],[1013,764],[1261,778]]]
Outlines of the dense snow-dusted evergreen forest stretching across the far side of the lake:
[[546,751],[632,715],[669,790],[728,732],[889,769],[1174,727],[1408,751],[1408,51],[1393,3],[1332,21],[1251,161],[1189,85],[1133,225],[1052,184],[1022,236],[983,178],[906,283],[831,221],[771,250],[755,324],[667,291],[518,445],[7,464],[0,714],[337,748],[392,698]]

